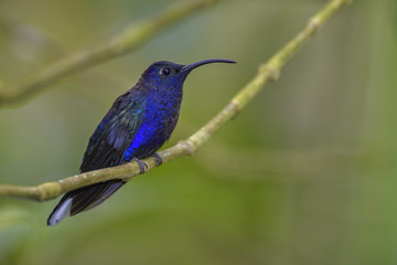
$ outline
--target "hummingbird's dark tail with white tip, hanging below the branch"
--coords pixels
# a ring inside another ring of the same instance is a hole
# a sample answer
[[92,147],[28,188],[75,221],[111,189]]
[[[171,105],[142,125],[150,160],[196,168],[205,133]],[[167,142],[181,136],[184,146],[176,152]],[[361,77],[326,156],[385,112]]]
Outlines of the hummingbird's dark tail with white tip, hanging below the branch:
[[109,180],[67,192],[51,213],[47,225],[56,225],[67,216],[73,216],[99,205],[125,183],[121,180]]

